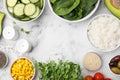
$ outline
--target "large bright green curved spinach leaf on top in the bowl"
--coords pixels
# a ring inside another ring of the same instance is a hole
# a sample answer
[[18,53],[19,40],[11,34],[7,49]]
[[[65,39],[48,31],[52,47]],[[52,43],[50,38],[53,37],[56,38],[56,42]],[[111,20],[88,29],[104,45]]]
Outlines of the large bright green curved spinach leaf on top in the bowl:
[[58,0],[53,4],[53,10],[57,15],[63,16],[75,9],[79,3],[80,0]]

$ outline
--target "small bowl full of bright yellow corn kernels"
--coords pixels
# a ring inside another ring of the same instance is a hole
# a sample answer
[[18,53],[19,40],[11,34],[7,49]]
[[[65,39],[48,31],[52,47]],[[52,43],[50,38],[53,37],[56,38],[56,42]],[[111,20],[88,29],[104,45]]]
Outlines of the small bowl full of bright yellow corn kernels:
[[34,64],[28,58],[19,58],[13,62],[10,74],[13,80],[33,80],[35,76]]

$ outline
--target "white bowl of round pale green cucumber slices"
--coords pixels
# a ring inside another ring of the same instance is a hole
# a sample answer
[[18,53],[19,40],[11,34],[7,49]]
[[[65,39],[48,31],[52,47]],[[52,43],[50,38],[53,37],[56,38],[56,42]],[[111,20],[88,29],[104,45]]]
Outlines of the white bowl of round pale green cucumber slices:
[[36,20],[45,7],[44,0],[6,0],[6,10],[14,20],[31,22]]

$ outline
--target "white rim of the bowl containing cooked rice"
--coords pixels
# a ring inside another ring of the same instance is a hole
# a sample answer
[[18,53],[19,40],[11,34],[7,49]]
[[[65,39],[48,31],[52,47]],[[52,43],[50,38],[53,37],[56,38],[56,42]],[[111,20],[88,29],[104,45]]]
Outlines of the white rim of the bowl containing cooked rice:
[[111,48],[111,49],[101,50],[101,49],[95,47],[94,44],[92,44],[92,42],[91,42],[91,40],[90,40],[90,38],[89,38],[89,35],[88,35],[88,30],[90,29],[90,26],[89,26],[89,25],[91,24],[91,22],[92,22],[93,20],[95,20],[96,18],[99,18],[99,17],[101,17],[101,16],[109,16],[109,17],[117,20],[117,21],[120,23],[120,20],[119,20],[118,18],[116,18],[115,16],[111,15],[111,14],[107,14],[107,13],[104,13],[104,14],[103,14],[103,13],[102,13],[102,14],[96,15],[95,17],[93,17],[93,18],[88,22],[88,27],[87,27],[87,30],[86,30],[87,38],[88,38],[89,43],[90,43],[90,44],[92,45],[92,47],[95,48],[96,50],[98,50],[98,51],[100,51],[100,52],[111,52],[111,51],[114,51],[114,50],[116,50],[117,48],[119,48],[119,47],[120,47],[120,44],[118,43],[118,45],[117,45],[116,47]]

